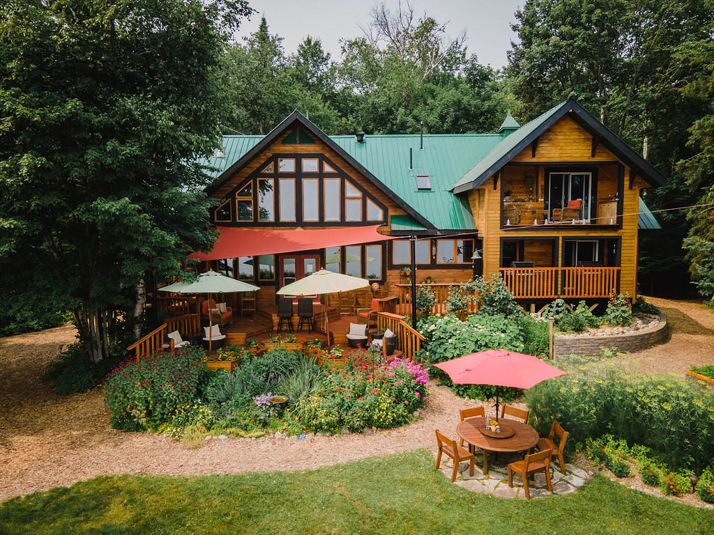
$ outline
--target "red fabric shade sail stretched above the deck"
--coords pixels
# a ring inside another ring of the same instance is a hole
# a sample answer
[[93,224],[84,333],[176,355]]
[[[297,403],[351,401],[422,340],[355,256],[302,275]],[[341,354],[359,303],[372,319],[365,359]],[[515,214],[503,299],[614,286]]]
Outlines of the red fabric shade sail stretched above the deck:
[[193,253],[188,258],[221,260],[239,256],[276,255],[310,249],[356,245],[393,240],[377,232],[381,225],[323,228],[317,230],[262,230],[259,228],[217,227],[221,235],[210,253]]

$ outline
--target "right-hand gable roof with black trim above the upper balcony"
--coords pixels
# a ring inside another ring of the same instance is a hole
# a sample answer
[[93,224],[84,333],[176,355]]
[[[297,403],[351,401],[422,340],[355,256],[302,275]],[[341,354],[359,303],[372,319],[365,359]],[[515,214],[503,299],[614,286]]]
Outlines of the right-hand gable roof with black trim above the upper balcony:
[[603,143],[615,156],[627,163],[630,168],[637,170],[638,175],[650,185],[656,186],[665,183],[665,177],[662,173],[656,170],[648,161],[645,161],[638,153],[635,153],[583,106],[580,106],[573,99],[568,99],[557,106],[553,106],[553,108],[536,117],[530,123],[521,126],[510,136],[503,138],[503,141],[498,143],[485,158],[479,161],[466,175],[463,175],[461,180],[453,184],[453,193],[463,193],[473,188],[478,188],[567,113],[570,113],[570,117],[591,135],[598,136],[600,143]]

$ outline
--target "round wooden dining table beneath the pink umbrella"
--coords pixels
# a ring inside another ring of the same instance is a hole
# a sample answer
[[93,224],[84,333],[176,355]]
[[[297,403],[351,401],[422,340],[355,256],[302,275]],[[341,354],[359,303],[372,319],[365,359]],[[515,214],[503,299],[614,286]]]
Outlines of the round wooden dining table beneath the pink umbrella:
[[501,418],[501,428],[513,429],[511,437],[492,438],[481,432],[486,429],[486,418],[467,418],[456,426],[458,436],[464,441],[483,449],[483,474],[488,474],[488,452],[526,452],[538,444],[538,432],[530,425],[516,420]]

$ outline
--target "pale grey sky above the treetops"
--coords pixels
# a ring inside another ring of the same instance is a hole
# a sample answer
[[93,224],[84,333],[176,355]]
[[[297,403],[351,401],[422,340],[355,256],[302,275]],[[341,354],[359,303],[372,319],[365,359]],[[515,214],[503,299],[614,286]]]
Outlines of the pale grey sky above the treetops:
[[[395,11],[398,0],[387,0]],[[256,31],[265,14],[271,34],[283,37],[287,54],[296,50],[306,35],[318,37],[323,49],[340,57],[340,39],[361,36],[361,27],[369,21],[374,0],[249,0],[257,11],[238,31],[238,38]],[[523,0],[413,0],[416,14],[427,14],[439,23],[448,21],[447,31],[456,36],[466,30],[468,54],[493,68],[506,65],[506,51],[515,34],[510,24],[513,13],[523,6]],[[404,5],[404,4],[403,4]]]

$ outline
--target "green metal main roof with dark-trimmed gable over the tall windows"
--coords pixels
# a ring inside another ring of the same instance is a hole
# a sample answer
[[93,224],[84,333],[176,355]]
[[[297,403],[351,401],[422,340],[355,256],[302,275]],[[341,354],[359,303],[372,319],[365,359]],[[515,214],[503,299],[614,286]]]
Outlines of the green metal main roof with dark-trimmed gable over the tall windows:
[[[388,192],[423,229],[475,230],[466,200],[449,190],[501,141],[500,134],[425,134],[423,149],[419,148],[418,134],[365,136],[364,143],[356,143],[354,136],[326,136],[301,113],[293,112],[267,136],[223,136],[223,158],[213,156],[203,162],[216,168],[209,172],[216,180],[206,188],[206,193],[213,193],[230,180],[236,170],[257,156],[293,121],[300,121],[378,188]],[[417,174],[429,175],[430,190],[418,190]]]

